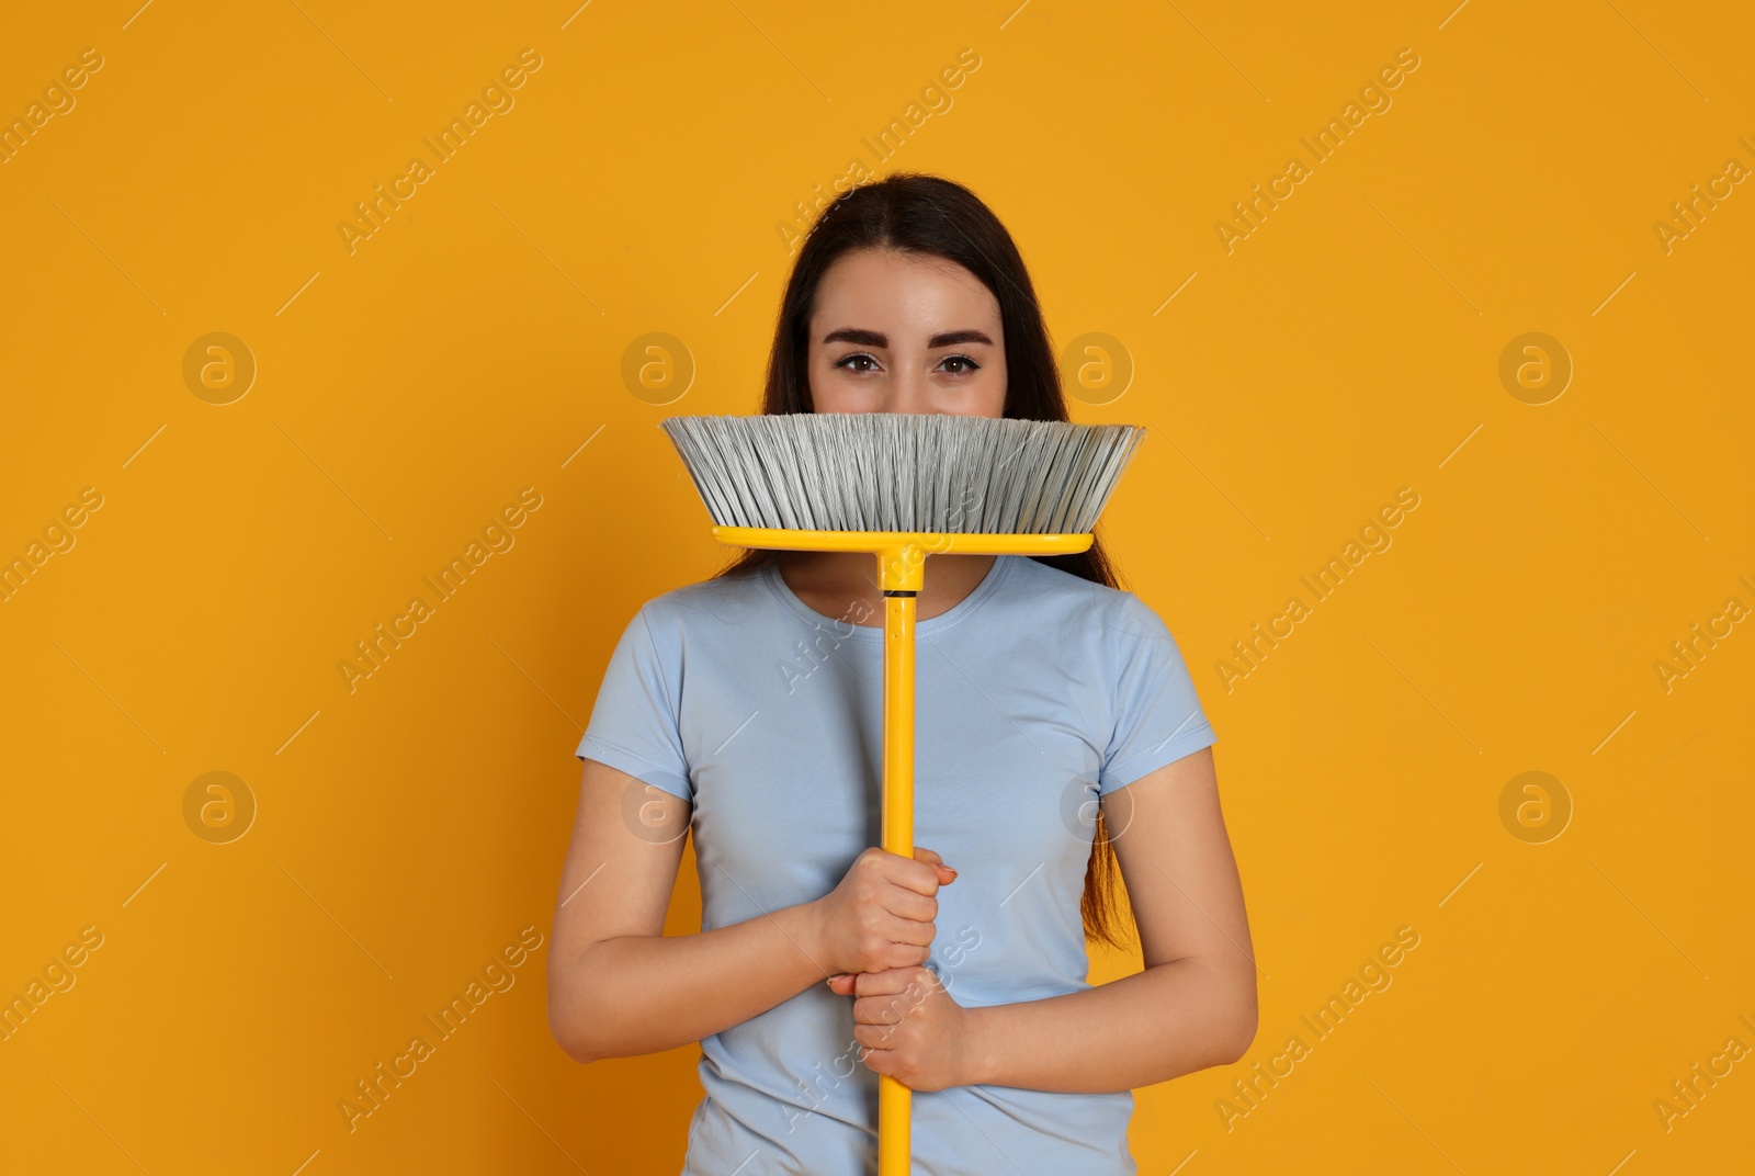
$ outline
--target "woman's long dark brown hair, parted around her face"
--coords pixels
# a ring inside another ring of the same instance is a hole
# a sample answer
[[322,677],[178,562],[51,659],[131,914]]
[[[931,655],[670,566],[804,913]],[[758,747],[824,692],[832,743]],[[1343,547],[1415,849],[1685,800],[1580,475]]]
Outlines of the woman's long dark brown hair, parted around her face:
[[[853,249],[930,255],[955,262],[981,279],[981,284],[999,298],[1000,328],[1006,333],[1007,376],[1002,416],[1027,421],[1069,419],[1042,307],[1035,302],[1030,274],[1011,233],[992,209],[962,184],[918,172],[897,172],[860,184],[837,197],[811,225],[793,262],[774,326],[767,386],[762,393],[763,412],[814,411],[806,356],[816,286],[828,267]],[[772,563],[777,555],[770,549],[744,549],[714,579],[755,572]],[[1109,588],[1121,586],[1097,537],[1088,549],[1074,555],[1030,558]],[[1123,946],[1121,911],[1114,895],[1120,874],[1114,844],[1099,809],[1079,913],[1085,920],[1085,936],[1114,948]]]

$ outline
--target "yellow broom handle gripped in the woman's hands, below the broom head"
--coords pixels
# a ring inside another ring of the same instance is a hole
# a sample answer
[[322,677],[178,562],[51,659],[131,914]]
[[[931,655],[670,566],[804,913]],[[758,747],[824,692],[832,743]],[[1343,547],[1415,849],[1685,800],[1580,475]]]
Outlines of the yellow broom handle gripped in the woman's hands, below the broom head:
[[[913,544],[878,553],[883,602],[883,848],[914,857],[914,593],[927,553]],[[878,1076],[878,1176],[909,1176],[913,1090]]]

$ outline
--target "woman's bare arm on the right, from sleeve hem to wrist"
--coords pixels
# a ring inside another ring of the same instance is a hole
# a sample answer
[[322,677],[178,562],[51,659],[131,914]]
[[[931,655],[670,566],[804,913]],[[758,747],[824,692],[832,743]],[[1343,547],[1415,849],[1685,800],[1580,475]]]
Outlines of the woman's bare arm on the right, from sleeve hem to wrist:
[[1243,1057],[1255,953],[1237,862],[1202,748],[1102,800],[1144,971],[1042,1000],[965,1009],[965,1085],[1109,1092]]

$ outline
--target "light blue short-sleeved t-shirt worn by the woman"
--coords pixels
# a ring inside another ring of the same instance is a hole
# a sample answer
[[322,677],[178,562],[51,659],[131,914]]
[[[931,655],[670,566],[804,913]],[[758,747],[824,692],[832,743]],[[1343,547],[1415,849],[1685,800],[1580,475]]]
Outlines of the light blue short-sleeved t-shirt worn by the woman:
[[[769,563],[623,630],[576,755],[693,802],[702,930],[820,899],[879,843],[879,620],[816,613]],[[1013,555],[914,632],[914,844],[958,869],[927,967],[965,1007],[1090,988],[1097,797],[1216,741],[1176,641],[1132,593]],[[853,997],[813,983],[700,1053],[683,1176],[878,1171]],[[916,1090],[914,1172],[1132,1176],[1132,1113],[1127,1090]]]

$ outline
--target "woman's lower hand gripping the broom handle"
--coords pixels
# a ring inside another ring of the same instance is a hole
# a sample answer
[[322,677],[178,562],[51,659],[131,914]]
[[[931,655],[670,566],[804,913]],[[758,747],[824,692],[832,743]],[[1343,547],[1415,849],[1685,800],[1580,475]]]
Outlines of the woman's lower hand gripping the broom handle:
[[834,976],[830,992],[851,995],[853,1039],[862,1060],[909,1090],[969,1083],[972,1025],[939,976],[923,965]]

